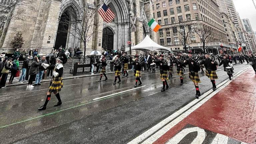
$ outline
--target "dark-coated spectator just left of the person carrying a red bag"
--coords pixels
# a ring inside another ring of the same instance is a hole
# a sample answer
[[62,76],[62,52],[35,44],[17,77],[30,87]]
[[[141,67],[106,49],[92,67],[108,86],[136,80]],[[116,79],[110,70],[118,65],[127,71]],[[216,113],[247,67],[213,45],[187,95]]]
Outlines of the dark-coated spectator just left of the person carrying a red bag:
[[7,61],[5,62],[4,64],[4,68],[2,70],[2,78],[1,78],[1,81],[0,81],[0,88],[5,88],[5,83],[6,83],[6,80],[7,80],[7,76],[8,76],[8,73],[9,71],[11,70],[12,68],[12,58],[8,58]]

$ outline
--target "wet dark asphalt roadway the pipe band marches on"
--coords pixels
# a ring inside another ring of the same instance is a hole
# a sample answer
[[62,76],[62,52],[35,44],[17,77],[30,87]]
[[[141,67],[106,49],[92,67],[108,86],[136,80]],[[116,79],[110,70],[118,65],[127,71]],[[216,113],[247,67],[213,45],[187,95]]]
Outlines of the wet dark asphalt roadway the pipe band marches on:
[[[234,71],[246,67],[248,64],[238,64]],[[223,67],[218,70],[216,84],[228,78]],[[159,72],[142,72],[143,85],[136,89],[133,73],[129,74],[116,85],[112,84],[113,74],[102,82],[97,82],[99,76],[64,80],[62,105],[53,107],[57,99],[52,94],[45,111],[37,111],[37,107],[45,101],[48,82],[34,89],[26,85],[0,89],[0,143],[123,144],[195,99],[188,70],[183,86],[179,86],[179,76],[174,73],[168,80],[171,88],[165,92],[160,92]],[[199,76],[203,94],[212,84],[206,76]],[[93,100],[103,96],[108,97]]]

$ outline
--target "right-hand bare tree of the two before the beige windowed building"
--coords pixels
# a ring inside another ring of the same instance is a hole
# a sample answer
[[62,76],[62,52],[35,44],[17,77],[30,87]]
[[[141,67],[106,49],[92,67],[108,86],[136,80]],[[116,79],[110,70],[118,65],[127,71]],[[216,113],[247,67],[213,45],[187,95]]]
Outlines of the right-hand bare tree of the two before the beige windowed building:
[[196,25],[194,26],[194,32],[200,37],[203,43],[203,53],[206,53],[207,42],[211,40],[212,30],[210,27],[205,25]]

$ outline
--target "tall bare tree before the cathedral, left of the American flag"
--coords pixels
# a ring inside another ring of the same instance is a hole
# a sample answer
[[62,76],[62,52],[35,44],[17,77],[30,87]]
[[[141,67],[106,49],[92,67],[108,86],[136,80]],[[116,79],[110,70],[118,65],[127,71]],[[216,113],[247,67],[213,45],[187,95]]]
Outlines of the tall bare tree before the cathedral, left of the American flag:
[[[84,45],[84,58],[85,63],[86,44],[92,41],[94,35],[98,33],[98,28],[102,26],[102,21],[99,20],[97,8],[100,4],[95,4],[94,7],[86,2],[81,3],[81,13],[77,14],[73,8],[68,9],[65,19],[61,21],[62,25],[66,25],[64,29],[69,35],[79,39]],[[64,13],[65,14],[65,13]]]

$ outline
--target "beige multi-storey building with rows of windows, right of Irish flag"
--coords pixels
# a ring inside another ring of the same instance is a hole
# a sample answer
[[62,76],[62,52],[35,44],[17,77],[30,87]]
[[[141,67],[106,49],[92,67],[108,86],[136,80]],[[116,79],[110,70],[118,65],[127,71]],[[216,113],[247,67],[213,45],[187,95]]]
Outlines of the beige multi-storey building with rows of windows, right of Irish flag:
[[[180,23],[187,23],[187,29],[204,25],[211,29],[208,52],[218,53],[220,45],[230,47],[222,24],[219,6],[214,0],[154,0],[153,17],[161,25],[158,43],[173,51],[183,50]],[[191,31],[187,38],[189,49],[200,51],[202,41],[198,34]]]

